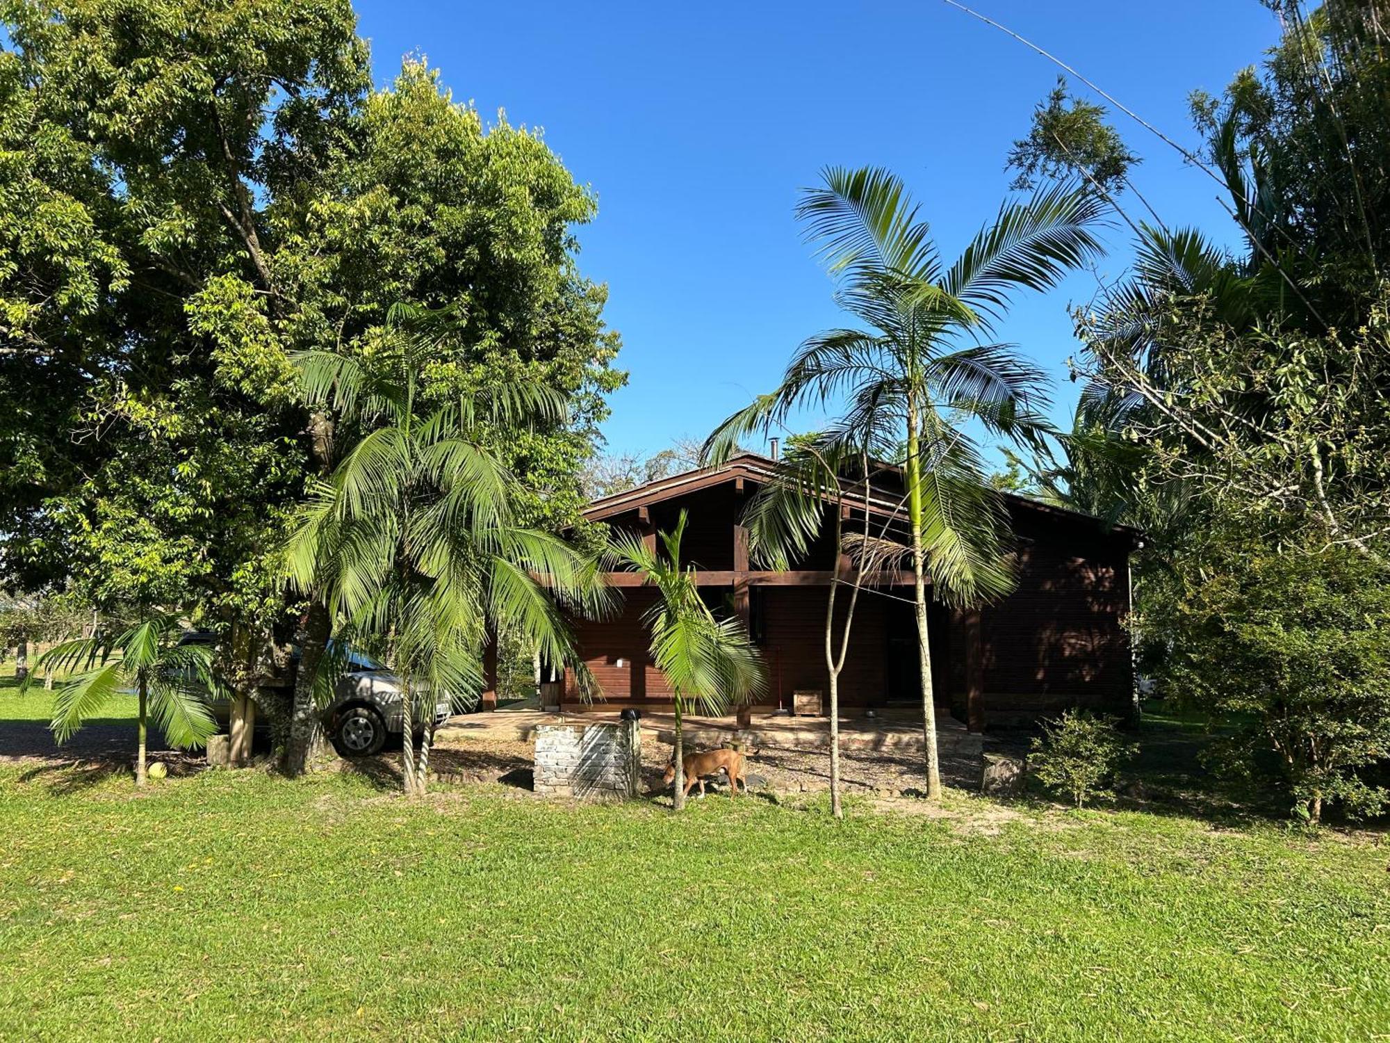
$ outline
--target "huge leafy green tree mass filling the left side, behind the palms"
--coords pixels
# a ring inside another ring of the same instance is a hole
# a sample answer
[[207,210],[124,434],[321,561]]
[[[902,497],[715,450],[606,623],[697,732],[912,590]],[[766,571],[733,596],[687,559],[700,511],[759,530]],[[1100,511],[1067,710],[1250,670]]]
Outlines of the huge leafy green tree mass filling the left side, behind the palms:
[[439,395],[562,391],[563,417],[493,439],[528,523],[575,520],[624,377],[575,263],[592,195],[538,134],[486,128],[420,61],[373,90],[348,0],[4,0],[0,18],[7,585],[190,606],[238,663],[271,633],[281,651],[295,626],[327,633],[275,581],[335,459],[291,356],[373,352],[398,300],[467,316],[430,366]]

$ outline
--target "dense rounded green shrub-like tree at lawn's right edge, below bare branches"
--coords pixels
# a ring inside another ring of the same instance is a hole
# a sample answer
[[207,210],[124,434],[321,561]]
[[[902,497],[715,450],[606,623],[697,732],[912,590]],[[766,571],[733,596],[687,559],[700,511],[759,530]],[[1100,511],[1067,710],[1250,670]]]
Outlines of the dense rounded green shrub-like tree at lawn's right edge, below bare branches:
[[1270,779],[1315,822],[1329,805],[1377,814],[1390,793],[1365,772],[1390,757],[1386,567],[1348,547],[1270,547],[1234,523],[1183,565],[1140,629],[1165,690],[1237,722],[1213,761]]

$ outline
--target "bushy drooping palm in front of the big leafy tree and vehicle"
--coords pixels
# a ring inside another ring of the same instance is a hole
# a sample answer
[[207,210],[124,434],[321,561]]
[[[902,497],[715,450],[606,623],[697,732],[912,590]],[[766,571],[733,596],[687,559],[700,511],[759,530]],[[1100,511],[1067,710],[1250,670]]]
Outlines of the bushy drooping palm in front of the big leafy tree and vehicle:
[[417,794],[434,708],[477,698],[489,630],[524,633],[542,656],[563,662],[571,640],[560,606],[596,611],[605,592],[591,558],[518,524],[520,488],[493,448],[500,432],[562,423],[560,396],[499,382],[431,407],[423,374],[452,334],[452,312],[398,305],[386,332],[370,359],[313,352],[299,360],[310,403],[331,405],[366,434],[311,488],[285,569],[299,590],[324,599],[341,638],[381,648],[400,674],[403,783]]

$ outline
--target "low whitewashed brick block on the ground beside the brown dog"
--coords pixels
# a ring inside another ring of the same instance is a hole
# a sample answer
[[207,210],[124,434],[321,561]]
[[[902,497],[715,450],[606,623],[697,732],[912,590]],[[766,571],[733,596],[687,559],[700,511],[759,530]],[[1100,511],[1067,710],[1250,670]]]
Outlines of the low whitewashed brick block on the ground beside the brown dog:
[[535,791],[546,797],[637,797],[642,733],[635,720],[539,725],[535,729]]

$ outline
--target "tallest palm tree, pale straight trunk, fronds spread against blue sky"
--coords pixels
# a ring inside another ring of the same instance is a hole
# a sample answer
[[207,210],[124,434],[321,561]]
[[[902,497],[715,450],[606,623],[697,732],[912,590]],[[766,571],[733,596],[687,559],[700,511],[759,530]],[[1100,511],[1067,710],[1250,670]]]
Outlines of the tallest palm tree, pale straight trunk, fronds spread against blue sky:
[[948,604],[980,604],[1012,584],[1008,516],[984,483],[967,432],[1030,441],[1045,428],[1044,374],[992,327],[1019,289],[1047,289],[1099,253],[1104,203],[1063,185],[1005,203],[947,268],[919,207],[888,171],[830,168],[798,217],[835,278],[835,300],[862,325],[809,338],[781,384],[726,420],[706,442],[720,459],[741,437],[766,434],[798,406],[842,406],[831,441],[902,459],[915,573],[927,794],[941,793],[927,580]]

